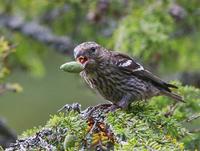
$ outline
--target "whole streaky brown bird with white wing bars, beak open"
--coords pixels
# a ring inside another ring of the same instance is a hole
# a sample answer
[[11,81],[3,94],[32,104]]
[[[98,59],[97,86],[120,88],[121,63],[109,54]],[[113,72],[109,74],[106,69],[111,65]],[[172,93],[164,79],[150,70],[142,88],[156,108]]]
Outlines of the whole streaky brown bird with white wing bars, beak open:
[[74,48],[74,58],[83,66],[81,77],[110,101],[112,108],[127,109],[134,101],[159,95],[184,102],[182,96],[172,91],[177,86],[161,80],[126,54],[89,41]]

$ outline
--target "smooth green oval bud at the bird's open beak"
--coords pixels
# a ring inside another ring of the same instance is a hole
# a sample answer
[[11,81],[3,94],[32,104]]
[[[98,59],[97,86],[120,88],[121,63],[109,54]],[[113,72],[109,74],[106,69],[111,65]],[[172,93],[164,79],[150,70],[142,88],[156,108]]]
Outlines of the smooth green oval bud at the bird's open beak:
[[79,72],[83,71],[84,67],[78,62],[71,61],[71,62],[62,64],[60,66],[60,69],[65,72],[79,73]]

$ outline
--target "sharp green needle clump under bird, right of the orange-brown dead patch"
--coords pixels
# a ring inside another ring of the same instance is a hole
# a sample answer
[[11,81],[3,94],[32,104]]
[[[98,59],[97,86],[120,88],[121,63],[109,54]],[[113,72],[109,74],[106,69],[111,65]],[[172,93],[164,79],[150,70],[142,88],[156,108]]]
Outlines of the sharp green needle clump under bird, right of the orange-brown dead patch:
[[177,141],[186,134],[174,119],[160,115],[149,106],[133,106],[129,114],[116,112],[108,116],[114,134],[124,139],[116,150],[183,150]]

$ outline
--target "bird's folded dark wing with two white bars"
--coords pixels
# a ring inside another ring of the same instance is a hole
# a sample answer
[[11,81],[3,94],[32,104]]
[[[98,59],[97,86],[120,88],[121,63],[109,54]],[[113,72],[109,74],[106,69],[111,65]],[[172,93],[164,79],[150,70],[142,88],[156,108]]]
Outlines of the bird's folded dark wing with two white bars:
[[125,54],[114,52],[112,58],[114,58],[113,63],[121,71],[128,72],[129,74],[132,74],[144,81],[149,81],[156,87],[159,87],[160,89],[164,89],[168,92],[171,92],[170,88],[177,88],[175,85],[168,84],[160,78],[158,78],[157,76],[153,75],[148,70],[145,70],[142,65],[140,65],[133,58]]

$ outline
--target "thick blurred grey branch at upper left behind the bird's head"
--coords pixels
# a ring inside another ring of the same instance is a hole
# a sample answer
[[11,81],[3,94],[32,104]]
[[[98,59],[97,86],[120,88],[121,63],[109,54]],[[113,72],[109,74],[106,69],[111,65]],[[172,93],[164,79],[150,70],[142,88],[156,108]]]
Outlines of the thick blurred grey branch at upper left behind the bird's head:
[[0,14],[0,27],[18,31],[47,46],[53,47],[60,53],[71,54],[74,43],[67,36],[57,36],[52,31],[36,21],[26,22],[21,16]]

